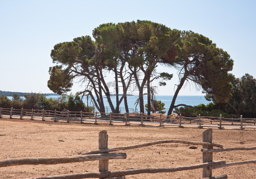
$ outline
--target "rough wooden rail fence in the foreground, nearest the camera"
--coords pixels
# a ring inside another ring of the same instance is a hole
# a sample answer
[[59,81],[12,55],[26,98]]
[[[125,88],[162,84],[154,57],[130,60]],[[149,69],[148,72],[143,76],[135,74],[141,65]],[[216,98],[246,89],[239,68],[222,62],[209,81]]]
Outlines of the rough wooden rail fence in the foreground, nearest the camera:
[[[126,153],[109,153],[120,150],[130,150],[134,148],[141,148],[150,145],[163,144],[163,143],[182,143],[182,144],[192,144],[192,145],[202,145],[202,164],[181,166],[181,167],[169,167],[169,168],[139,168],[130,170],[116,170],[108,171],[108,160],[110,159],[126,159]],[[99,132],[99,150],[90,151],[87,153],[80,154],[79,156],[70,157],[51,157],[51,158],[20,158],[20,159],[4,159],[0,160],[0,167],[7,167],[13,165],[38,165],[38,164],[60,164],[60,163],[71,163],[71,162],[81,162],[81,161],[92,161],[99,160],[99,172],[86,172],[86,173],[72,173],[65,175],[51,175],[43,177],[34,177],[33,179],[80,179],[80,178],[108,178],[108,179],[121,179],[125,178],[126,175],[136,175],[141,173],[160,173],[160,172],[176,172],[183,170],[194,170],[202,168],[202,178],[228,178],[227,174],[212,177],[212,170],[221,167],[228,167],[233,165],[242,164],[253,164],[256,160],[249,161],[238,161],[226,163],[225,160],[212,161],[213,153],[223,152],[223,151],[234,151],[234,150],[256,150],[254,147],[234,147],[234,148],[223,148],[223,145],[212,143],[212,129],[207,129],[203,132],[202,142],[191,142],[185,140],[160,140],[154,142],[147,142],[138,145],[130,145],[124,147],[108,148],[108,135],[107,131]],[[213,149],[213,147],[218,147],[219,149]],[[27,178],[32,179],[32,178]]]

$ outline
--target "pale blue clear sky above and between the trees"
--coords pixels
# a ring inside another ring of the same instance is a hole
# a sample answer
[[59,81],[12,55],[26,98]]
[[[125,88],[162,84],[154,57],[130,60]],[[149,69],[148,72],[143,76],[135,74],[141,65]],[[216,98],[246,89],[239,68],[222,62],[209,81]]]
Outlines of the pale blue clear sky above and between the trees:
[[[208,37],[234,60],[231,73],[256,78],[255,0],[180,0],[180,1],[49,1],[0,0],[0,90],[53,93],[47,87],[50,57],[54,45],[75,37],[92,36],[103,23],[150,20],[171,29],[191,30]],[[177,71],[159,67],[173,74],[158,95],[174,95]],[[109,81],[113,81],[109,77]],[[156,83],[157,85],[157,83]],[[82,91],[75,83],[72,93]],[[192,83],[179,95],[204,95]]]

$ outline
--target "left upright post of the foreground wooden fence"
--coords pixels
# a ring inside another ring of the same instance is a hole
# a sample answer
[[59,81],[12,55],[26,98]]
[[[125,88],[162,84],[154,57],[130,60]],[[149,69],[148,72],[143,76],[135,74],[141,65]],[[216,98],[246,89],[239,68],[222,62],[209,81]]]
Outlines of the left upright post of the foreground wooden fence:
[[[108,135],[107,131],[99,132],[99,149],[107,148]],[[99,160],[99,172],[108,171],[108,160]]]

